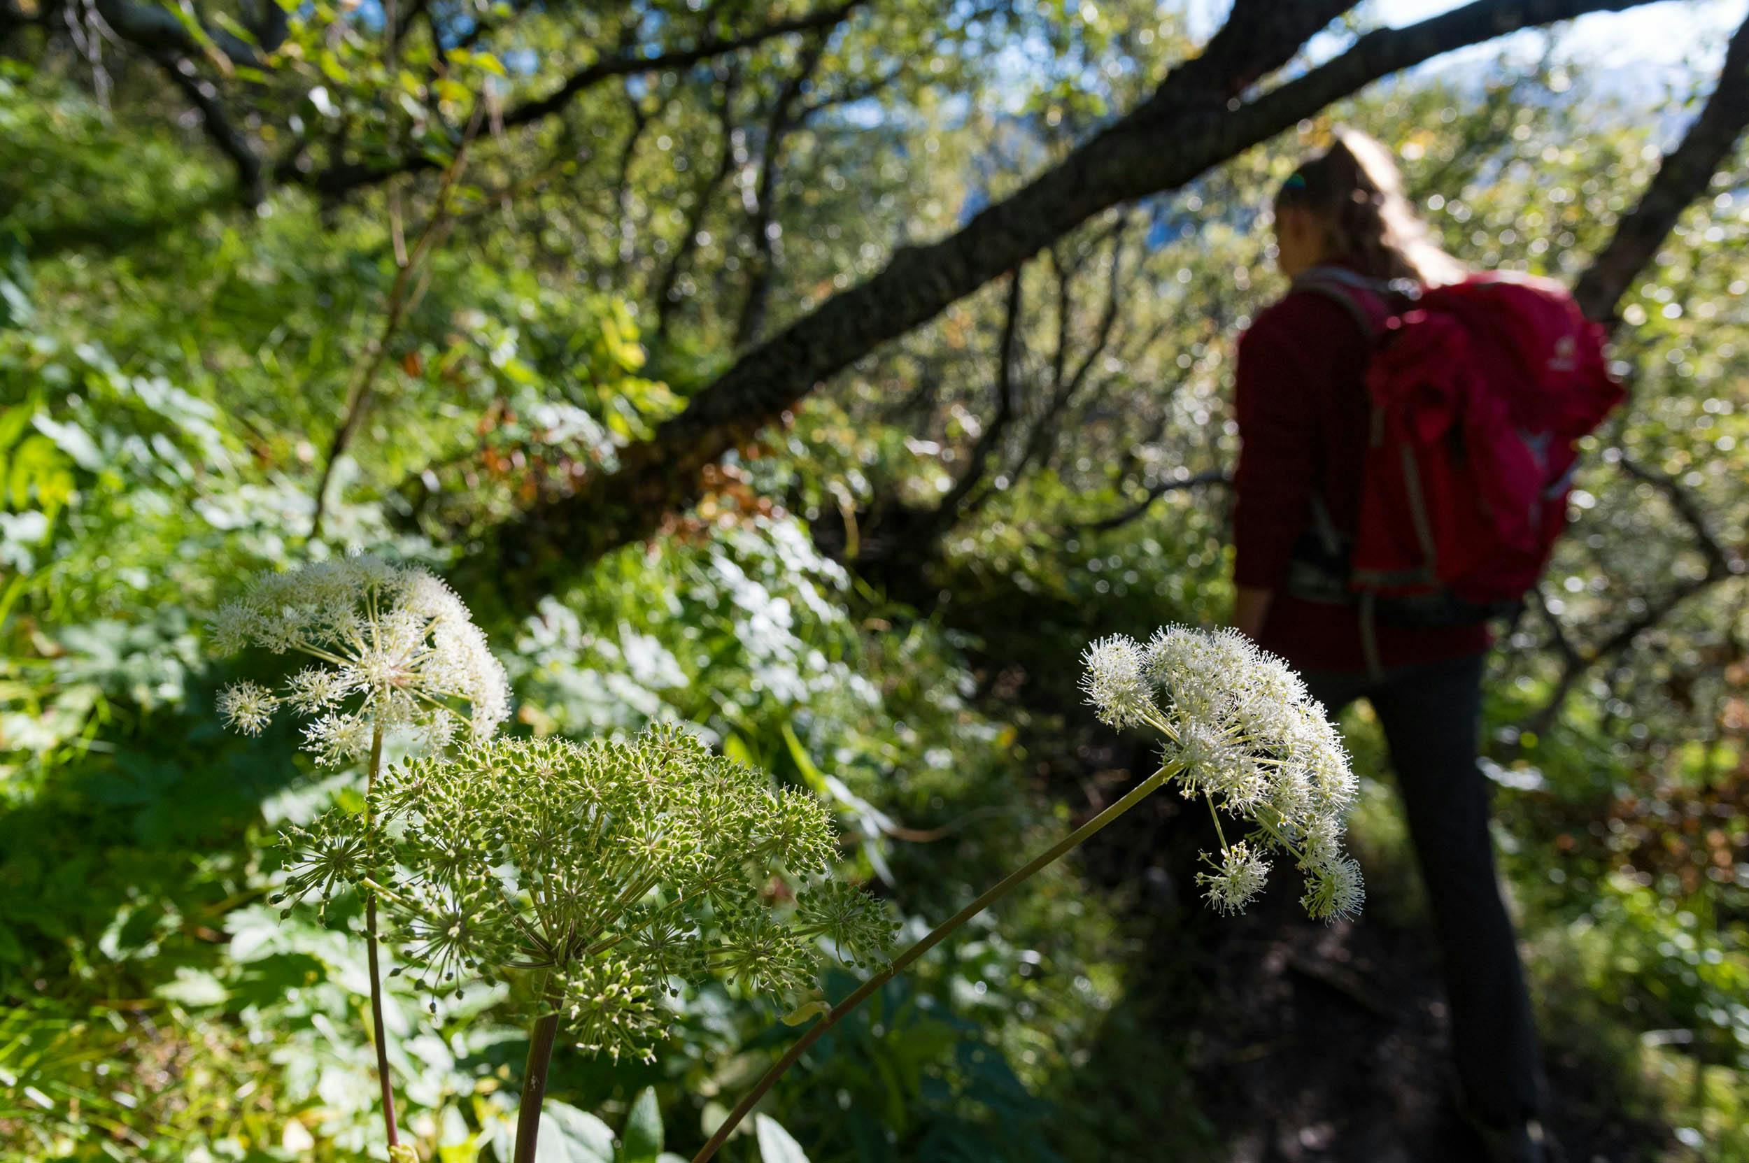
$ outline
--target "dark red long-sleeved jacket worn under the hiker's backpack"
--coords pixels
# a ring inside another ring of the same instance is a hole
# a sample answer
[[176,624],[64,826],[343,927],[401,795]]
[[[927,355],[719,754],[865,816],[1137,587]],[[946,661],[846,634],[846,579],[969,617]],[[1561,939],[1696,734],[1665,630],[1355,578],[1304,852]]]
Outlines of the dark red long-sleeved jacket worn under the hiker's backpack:
[[[1324,498],[1338,532],[1361,511],[1361,463],[1371,406],[1371,343],[1348,311],[1317,292],[1289,292],[1238,341],[1238,474],[1233,581],[1275,593],[1259,644],[1301,670],[1366,670],[1357,607],[1282,593],[1294,542]],[[1406,630],[1380,624],[1385,666],[1488,649],[1485,624]]]

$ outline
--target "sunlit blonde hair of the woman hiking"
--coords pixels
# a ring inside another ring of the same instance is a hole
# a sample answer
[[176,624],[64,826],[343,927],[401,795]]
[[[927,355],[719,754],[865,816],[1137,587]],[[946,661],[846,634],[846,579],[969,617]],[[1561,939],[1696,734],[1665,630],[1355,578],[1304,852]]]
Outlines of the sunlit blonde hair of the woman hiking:
[[1403,196],[1390,150],[1355,129],[1300,164],[1275,194],[1275,210],[1308,210],[1327,231],[1331,257],[1373,278],[1408,278],[1425,287],[1455,283],[1464,264],[1427,238],[1427,226]]

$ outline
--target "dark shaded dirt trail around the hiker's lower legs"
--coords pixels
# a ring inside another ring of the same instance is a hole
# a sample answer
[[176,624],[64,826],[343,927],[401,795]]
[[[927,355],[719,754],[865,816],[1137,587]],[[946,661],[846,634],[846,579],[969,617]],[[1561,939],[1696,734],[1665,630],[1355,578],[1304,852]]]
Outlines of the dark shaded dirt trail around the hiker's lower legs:
[[[1432,934],[1387,916],[1312,925],[1293,885],[1273,888],[1200,974],[1219,1021],[1193,1042],[1193,1076],[1231,1163],[1476,1163]],[[1670,1142],[1558,1042],[1544,1058],[1557,1160],[1639,1163]]]

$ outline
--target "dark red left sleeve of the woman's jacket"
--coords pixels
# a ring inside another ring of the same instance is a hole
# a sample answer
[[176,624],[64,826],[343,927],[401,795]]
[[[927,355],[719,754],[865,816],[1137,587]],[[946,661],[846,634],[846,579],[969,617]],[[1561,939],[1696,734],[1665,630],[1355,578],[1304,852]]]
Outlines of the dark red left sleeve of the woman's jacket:
[[1258,317],[1238,341],[1235,376],[1233,582],[1272,591],[1286,582],[1294,542],[1312,518],[1327,367],[1312,350],[1324,336],[1315,327],[1301,334],[1296,306],[1289,299]]

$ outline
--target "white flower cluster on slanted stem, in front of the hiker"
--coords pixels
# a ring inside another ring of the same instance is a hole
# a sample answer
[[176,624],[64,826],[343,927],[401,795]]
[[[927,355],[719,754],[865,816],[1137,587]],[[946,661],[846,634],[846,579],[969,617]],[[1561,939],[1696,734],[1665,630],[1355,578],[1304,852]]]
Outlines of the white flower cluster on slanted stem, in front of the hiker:
[[[1312,916],[1361,911],[1359,866],[1343,855],[1355,778],[1341,738],[1293,672],[1235,630],[1174,626],[1139,644],[1123,635],[1088,647],[1081,689],[1114,728],[1167,738],[1163,768],[1186,797],[1203,797],[1221,834],[1219,860],[1198,881],[1223,913],[1244,909],[1268,880],[1268,852],[1307,874]],[[1228,843],[1221,815],[1251,832]]]

